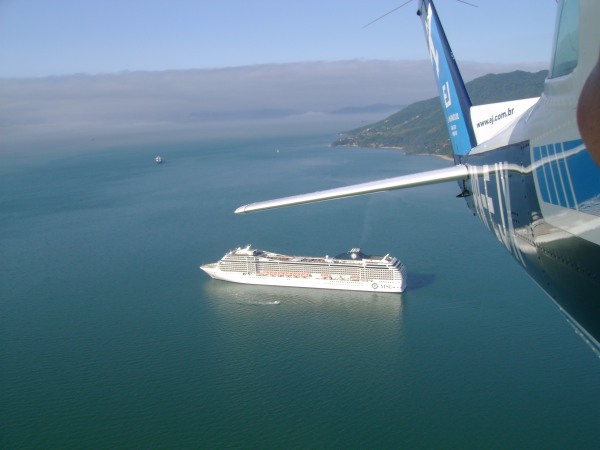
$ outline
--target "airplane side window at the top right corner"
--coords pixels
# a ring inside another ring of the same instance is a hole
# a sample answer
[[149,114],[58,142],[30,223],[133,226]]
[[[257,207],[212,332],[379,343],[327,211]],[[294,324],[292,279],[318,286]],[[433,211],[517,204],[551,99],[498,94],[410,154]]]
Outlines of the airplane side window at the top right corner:
[[570,74],[579,58],[579,1],[565,0],[554,45],[552,77]]

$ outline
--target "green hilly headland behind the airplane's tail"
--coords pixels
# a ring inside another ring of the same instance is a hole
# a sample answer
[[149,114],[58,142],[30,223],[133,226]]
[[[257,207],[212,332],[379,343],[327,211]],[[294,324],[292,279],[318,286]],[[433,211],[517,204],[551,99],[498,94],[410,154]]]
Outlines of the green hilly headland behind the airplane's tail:
[[[538,97],[548,71],[489,74],[466,83],[474,105]],[[407,153],[452,155],[438,97],[413,103],[386,119],[340,134],[333,146],[396,147]]]

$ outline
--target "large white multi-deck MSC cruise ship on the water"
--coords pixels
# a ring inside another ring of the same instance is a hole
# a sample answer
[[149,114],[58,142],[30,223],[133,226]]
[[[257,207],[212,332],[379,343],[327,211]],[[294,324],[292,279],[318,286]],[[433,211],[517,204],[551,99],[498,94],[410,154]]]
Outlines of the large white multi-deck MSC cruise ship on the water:
[[371,292],[406,288],[406,268],[400,260],[389,254],[369,256],[360,248],[330,258],[280,255],[248,245],[200,268],[212,278],[234,283]]

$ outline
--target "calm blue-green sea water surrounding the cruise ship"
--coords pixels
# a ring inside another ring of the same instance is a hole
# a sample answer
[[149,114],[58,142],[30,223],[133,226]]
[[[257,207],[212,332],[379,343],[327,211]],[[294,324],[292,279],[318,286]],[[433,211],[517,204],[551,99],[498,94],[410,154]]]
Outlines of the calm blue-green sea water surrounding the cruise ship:
[[[5,161],[0,446],[597,447],[600,360],[453,183],[233,214],[449,164],[328,147],[334,138],[265,132]],[[244,286],[198,269],[247,243],[389,252],[408,289]]]

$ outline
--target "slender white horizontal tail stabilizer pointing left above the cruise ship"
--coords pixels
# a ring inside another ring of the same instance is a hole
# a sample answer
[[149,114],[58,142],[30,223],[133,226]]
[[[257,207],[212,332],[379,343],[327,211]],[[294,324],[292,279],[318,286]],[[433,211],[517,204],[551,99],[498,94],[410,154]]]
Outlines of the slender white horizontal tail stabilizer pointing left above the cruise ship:
[[283,197],[275,200],[250,203],[248,205],[240,206],[235,210],[235,213],[245,214],[255,211],[264,211],[266,209],[281,208],[282,206],[322,202],[325,200],[354,197],[357,195],[373,194],[375,192],[391,191],[395,189],[443,183],[453,180],[466,180],[468,175],[469,171],[467,166],[464,164],[459,164],[454,167],[447,167],[444,169],[430,170],[427,172],[403,175],[395,178],[386,178],[385,180],[370,181],[368,183],[354,184],[351,186],[328,189],[325,191],[312,192],[310,194],[294,195],[292,197]]

